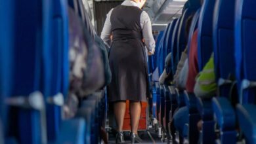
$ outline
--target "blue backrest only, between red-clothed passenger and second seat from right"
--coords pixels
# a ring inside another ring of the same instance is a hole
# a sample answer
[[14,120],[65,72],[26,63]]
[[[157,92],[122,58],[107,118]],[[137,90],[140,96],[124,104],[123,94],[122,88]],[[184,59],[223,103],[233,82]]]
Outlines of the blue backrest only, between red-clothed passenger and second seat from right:
[[215,0],[205,0],[198,22],[198,67],[202,71],[213,52],[213,9]]

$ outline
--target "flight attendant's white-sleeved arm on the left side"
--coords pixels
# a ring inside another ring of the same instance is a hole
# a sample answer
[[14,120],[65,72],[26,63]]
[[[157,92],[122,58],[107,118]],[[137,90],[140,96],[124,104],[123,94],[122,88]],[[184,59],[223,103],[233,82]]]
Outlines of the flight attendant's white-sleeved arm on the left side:
[[111,43],[112,43],[112,39],[111,39],[112,27],[111,27],[111,22],[110,22],[110,17],[111,17],[112,11],[113,11],[113,9],[111,9],[110,12],[108,12],[104,27],[103,27],[101,35],[100,35],[100,38],[105,43],[107,43],[109,46],[111,46]]

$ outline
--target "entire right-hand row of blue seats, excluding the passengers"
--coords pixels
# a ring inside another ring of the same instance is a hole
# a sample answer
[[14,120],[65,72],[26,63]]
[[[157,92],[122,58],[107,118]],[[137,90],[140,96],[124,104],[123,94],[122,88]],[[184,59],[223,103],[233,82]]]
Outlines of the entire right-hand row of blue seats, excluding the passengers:
[[[200,1],[190,0],[184,5],[181,18],[173,20],[158,35],[156,66],[161,74],[164,59],[171,52],[171,73],[174,74],[181,52],[186,44],[189,52],[192,34],[198,29],[198,71],[202,71],[214,52],[218,89],[214,98],[200,99],[177,90],[172,83],[167,86],[154,82],[152,113],[169,138],[175,129],[168,128],[167,124],[172,121],[175,110],[185,106],[189,109],[189,122],[184,126],[186,134],[179,135],[185,135],[190,143],[256,143],[253,115],[255,6],[255,1],[251,0],[205,0],[202,6]],[[186,41],[182,29],[190,14],[194,16]],[[198,132],[200,119],[202,130]]]

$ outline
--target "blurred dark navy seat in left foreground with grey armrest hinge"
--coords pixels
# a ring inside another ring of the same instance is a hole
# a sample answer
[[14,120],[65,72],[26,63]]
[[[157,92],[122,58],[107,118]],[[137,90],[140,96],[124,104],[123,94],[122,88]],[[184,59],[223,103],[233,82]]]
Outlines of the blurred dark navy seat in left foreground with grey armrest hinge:
[[[45,103],[41,94],[43,50],[43,3],[41,1],[9,1],[14,22],[10,42],[13,46],[11,93],[5,101],[10,106],[7,137],[18,143],[47,143]],[[9,14],[7,14],[8,16]],[[7,34],[9,35],[9,34]],[[23,99],[24,103],[18,103]]]

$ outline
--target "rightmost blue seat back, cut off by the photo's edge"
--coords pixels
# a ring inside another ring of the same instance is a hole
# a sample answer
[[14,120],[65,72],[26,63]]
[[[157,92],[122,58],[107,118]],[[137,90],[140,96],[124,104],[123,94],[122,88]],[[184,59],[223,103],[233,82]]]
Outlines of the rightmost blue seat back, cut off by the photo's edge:
[[[250,88],[250,82],[256,81],[255,46],[256,46],[256,1],[236,1],[235,14],[235,56],[236,75],[241,91],[240,103],[255,103],[255,86]],[[247,80],[244,81],[243,80]]]

